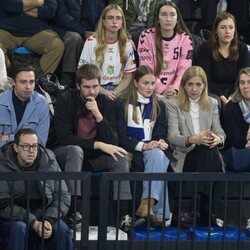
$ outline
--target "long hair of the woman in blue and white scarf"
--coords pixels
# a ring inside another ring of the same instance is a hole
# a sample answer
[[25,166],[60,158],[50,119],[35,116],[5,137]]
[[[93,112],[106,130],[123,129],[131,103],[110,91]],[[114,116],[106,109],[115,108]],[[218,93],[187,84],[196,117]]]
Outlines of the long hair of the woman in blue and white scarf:
[[[137,119],[137,111],[136,111],[137,88],[135,86],[135,82],[138,82],[143,76],[145,76],[147,74],[155,75],[154,71],[150,67],[148,67],[146,65],[139,66],[136,69],[136,71],[134,72],[133,78],[130,81],[130,84],[129,84],[127,91],[121,96],[121,98],[125,100],[125,104],[124,104],[125,120],[127,120],[127,116],[128,116],[128,105],[131,104],[133,106],[132,119],[135,123],[139,123],[139,121]],[[156,93],[154,90],[154,92],[152,94],[152,113],[151,113],[151,117],[150,117],[151,121],[154,121],[154,122],[156,121],[156,119],[158,117],[159,110],[160,110],[160,107],[159,107]]]

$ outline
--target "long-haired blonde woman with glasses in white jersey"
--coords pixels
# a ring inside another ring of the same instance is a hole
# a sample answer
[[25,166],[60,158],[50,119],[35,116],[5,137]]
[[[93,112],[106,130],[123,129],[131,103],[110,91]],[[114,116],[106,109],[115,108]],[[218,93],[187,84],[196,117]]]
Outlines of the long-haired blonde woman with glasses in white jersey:
[[102,70],[100,92],[115,100],[136,69],[133,43],[128,39],[122,9],[110,4],[102,11],[96,35],[85,42],[78,66],[96,64]]

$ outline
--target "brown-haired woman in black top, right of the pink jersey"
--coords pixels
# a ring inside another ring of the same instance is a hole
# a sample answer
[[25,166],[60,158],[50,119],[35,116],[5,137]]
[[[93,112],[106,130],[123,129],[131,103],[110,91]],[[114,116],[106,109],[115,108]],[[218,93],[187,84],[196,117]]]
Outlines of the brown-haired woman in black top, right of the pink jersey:
[[247,46],[238,41],[233,15],[228,12],[217,15],[211,39],[199,49],[197,64],[207,74],[209,92],[226,104],[234,91],[239,70],[250,65]]

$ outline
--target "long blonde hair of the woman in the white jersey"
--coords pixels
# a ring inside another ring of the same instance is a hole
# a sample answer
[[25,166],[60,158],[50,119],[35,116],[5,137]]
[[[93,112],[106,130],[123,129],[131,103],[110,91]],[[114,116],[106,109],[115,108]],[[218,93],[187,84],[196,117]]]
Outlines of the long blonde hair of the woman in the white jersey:
[[99,67],[102,68],[102,65],[104,62],[104,55],[107,51],[106,29],[103,25],[103,21],[106,18],[107,12],[112,9],[118,10],[122,15],[122,27],[118,31],[117,41],[118,41],[121,64],[122,64],[122,69],[123,69],[125,67],[125,64],[128,58],[126,54],[126,43],[128,40],[128,36],[127,36],[127,28],[126,28],[126,22],[125,22],[125,16],[124,16],[123,10],[117,4],[109,4],[103,9],[101,13],[101,16],[98,21],[97,29],[96,29],[95,55],[96,55],[96,60],[98,62]]

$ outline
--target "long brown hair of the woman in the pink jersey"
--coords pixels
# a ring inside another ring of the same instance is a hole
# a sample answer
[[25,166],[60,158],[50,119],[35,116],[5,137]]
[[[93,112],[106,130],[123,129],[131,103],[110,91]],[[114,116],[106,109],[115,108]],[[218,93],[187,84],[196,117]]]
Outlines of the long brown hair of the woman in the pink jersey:
[[164,6],[170,6],[173,7],[176,10],[177,13],[177,23],[174,27],[174,31],[176,33],[187,33],[190,37],[190,40],[192,41],[192,36],[185,24],[185,22],[182,19],[181,12],[178,8],[178,6],[171,1],[166,1],[163,2],[162,4],[159,5],[155,17],[155,47],[156,47],[156,69],[155,69],[155,74],[156,76],[159,76],[161,71],[162,71],[162,65],[163,65],[163,48],[162,48],[162,32],[161,32],[161,25],[159,23],[159,14],[160,10]]

